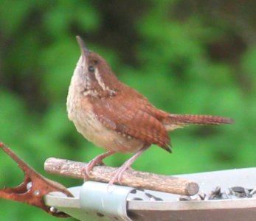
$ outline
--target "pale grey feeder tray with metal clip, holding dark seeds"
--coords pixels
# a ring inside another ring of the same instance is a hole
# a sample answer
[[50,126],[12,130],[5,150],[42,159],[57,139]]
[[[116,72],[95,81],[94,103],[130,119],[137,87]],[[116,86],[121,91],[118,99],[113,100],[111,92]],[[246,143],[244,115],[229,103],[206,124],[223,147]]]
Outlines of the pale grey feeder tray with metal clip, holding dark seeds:
[[[194,180],[209,194],[216,186],[255,189],[256,168],[201,172],[178,177]],[[226,200],[179,201],[179,195],[88,181],[69,188],[75,198],[46,195],[48,206],[77,220],[256,220],[256,197]]]

